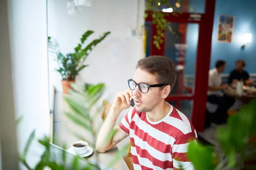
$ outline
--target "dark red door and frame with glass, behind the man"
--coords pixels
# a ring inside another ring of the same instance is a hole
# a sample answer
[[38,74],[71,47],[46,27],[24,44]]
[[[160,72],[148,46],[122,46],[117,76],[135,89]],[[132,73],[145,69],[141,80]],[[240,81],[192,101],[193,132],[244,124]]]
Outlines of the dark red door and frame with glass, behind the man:
[[[204,131],[214,10],[215,0],[206,0],[204,14],[183,12],[178,15],[171,13],[166,16],[168,24],[172,28],[177,28],[178,36],[176,37],[178,38],[176,40],[168,30],[165,31],[165,40],[160,44],[160,50],[153,44],[153,37],[157,31],[154,24],[151,24],[151,30],[148,30],[151,31],[151,36],[147,36],[147,39],[151,38],[150,55],[169,57],[176,64],[177,80],[166,101],[175,105],[183,113],[187,112],[185,114],[192,119],[192,124],[198,132]],[[148,17],[145,19],[147,28],[147,23],[150,25],[152,17],[150,11],[146,11],[146,13],[148,13]],[[195,35],[195,31],[188,32],[188,27],[197,29],[197,34]],[[186,41],[193,40],[197,42],[189,42],[190,47],[187,47]],[[194,63],[186,63],[189,59],[190,61],[194,59]],[[191,76],[194,82],[189,82],[189,76],[184,77],[186,67],[195,70]],[[192,86],[189,85],[190,83]]]

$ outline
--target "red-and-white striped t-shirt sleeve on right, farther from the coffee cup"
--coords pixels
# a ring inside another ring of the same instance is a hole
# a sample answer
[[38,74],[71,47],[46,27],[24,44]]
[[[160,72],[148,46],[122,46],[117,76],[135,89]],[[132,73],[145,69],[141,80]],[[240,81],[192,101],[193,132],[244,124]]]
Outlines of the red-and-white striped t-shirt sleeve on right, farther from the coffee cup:
[[190,132],[180,136],[173,144],[172,147],[172,162],[173,170],[195,170],[192,162],[189,161],[186,153],[190,142],[197,143],[196,132]]

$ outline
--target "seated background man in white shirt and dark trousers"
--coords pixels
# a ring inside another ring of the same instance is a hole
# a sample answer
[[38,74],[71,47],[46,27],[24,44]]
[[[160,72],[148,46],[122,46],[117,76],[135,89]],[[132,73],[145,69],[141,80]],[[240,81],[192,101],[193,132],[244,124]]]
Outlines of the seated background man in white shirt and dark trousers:
[[234,98],[224,95],[221,91],[228,87],[228,85],[221,84],[221,73],[225,70],[225,66],[225,61],[218,60],[215,68],[209,70],[207,101],[218,105],[214,113],[215,120],[213,120],[217,124],[227,121],[227,111],[235,103]]

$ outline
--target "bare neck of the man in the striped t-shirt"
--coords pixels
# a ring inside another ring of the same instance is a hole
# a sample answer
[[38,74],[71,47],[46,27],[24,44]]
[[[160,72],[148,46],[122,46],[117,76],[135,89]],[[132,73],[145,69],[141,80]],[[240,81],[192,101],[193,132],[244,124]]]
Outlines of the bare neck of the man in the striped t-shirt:
[[164,99],[151,112],[147,112],[148,119],[157,122],[163,119],[170,111],[171,106]]

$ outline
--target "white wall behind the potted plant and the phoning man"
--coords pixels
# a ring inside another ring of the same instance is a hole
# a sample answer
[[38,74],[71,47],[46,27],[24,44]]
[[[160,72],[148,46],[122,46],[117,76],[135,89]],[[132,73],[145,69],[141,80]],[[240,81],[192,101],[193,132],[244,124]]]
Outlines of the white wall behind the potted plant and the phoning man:
[[[66,0],[48,0],[48,32],[56,38],[61,51],[73,52],[81,35],[87,30],[95,33],[87,40],[98,38],[105,31],[111,34],[93,49],[81,71],[78,82],[104,82],[105,98],[113,101],[118,91],[128,88],[127,79],[132,78],[137,61],[143,57],[143,40],[129,37],[128,30],[137,23],[137,3],[140,3],[139,28],[144,23],[144,0],[94,0],[92,7],[82,8],[80,14],[67,13]],[[61,77],[54,71],[50,61],[50,81],[61,90]]]

